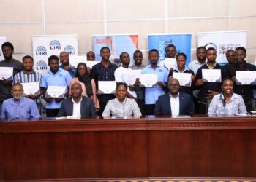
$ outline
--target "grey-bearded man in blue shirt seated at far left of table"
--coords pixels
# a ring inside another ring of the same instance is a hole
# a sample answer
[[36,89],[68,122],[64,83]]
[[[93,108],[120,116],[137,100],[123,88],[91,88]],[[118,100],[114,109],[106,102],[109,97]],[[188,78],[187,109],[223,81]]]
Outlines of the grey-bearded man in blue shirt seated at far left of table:
[[34,100],[23,97],[22,84],[12,85],[13,98],[4,100],[1,109],[1,118],[39,118],[41,117]]

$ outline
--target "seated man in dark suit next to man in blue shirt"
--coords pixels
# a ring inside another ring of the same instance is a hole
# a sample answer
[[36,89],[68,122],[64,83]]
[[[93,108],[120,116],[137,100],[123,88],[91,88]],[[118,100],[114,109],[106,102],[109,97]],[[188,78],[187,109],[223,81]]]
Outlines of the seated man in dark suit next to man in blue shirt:
[[82,96],[82,86],[80,83],[72,84],[71,98],[63,100],[59,109],[58,117],[90,117],[97,116],[94,108],[94,101],[91,98]]

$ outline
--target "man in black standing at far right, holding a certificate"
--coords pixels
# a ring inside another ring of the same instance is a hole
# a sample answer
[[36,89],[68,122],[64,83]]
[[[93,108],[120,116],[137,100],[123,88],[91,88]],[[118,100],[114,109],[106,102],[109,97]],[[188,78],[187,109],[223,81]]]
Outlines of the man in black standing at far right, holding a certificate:
[[256,67],[250,63],[246,63],[246,49],[244,47],[236,48],[236,63],[232,66],[228,66],[228,75],[234,82],[234,92],[241,95],[244,99],[244,103],[247,111],[251,111],[250,102],[253,98],[252,90],[255,89],[255,85],[251,84],[238,84],[236,83],[236,71],[256,71]]

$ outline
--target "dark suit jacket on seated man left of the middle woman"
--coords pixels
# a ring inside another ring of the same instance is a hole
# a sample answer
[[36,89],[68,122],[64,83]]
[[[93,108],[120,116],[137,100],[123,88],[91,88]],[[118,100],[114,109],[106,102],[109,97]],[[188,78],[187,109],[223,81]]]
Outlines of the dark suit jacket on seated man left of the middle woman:
[[[94,101],[91,98],[86,98],[82,96],[81,101],[81,117],[97,116],[94,107]],[[64,99],[61,103],[61,108],[59,109],[58,117],[62,116],[72,116],[73,115],[73,103],[72,98]]]

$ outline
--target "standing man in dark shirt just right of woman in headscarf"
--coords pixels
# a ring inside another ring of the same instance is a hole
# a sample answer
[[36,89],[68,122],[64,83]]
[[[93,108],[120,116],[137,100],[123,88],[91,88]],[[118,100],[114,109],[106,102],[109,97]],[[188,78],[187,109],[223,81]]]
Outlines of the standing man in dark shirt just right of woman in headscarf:
[[[99,81],[115,81],[114,72],[117,68],[115,64],[110,63],[110,49],[108,47],[102,47],[100,49],[100,56],[102,58],[102,61],[91,68],[91,77],[96,82],[97,91],[99,91]],[[115,95],[99,94],[98,92],[97,95],[100,106],[98,115],[101,116],[105,109],[105,106],[108,103],[108,100],[115,98]]]

